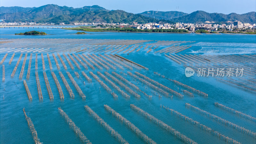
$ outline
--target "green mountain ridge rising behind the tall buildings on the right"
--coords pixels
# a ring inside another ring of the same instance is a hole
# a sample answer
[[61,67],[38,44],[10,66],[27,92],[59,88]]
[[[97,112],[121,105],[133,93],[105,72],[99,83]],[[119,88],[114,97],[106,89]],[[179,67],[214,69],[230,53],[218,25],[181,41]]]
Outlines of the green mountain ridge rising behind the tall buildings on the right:
[[208,13],[204,11],[192,12],[188,15],[172,19],[177,22],[184,23],[205,23],[206,21],[214,23],[228,23],[239,20],[242,23],[256,23],[256,12],[248,12],[244,14],[230,13]]

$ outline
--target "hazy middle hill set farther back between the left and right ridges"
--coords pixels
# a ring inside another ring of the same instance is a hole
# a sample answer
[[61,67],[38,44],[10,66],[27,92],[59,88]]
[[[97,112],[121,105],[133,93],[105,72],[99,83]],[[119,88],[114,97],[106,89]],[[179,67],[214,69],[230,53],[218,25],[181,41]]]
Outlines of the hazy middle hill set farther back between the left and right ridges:
[[169,11],[169,12],[162,12],[162,11],[146,11],[146,12],[142,12],[142,13],[138,13],[141,14],[145,17],[149,17],[149,18],[156,18],[158,20],[172,20],[174,18],[178,18],[184,15],[188,15],[188,13],[185,12],[178,12],[178,11]]

